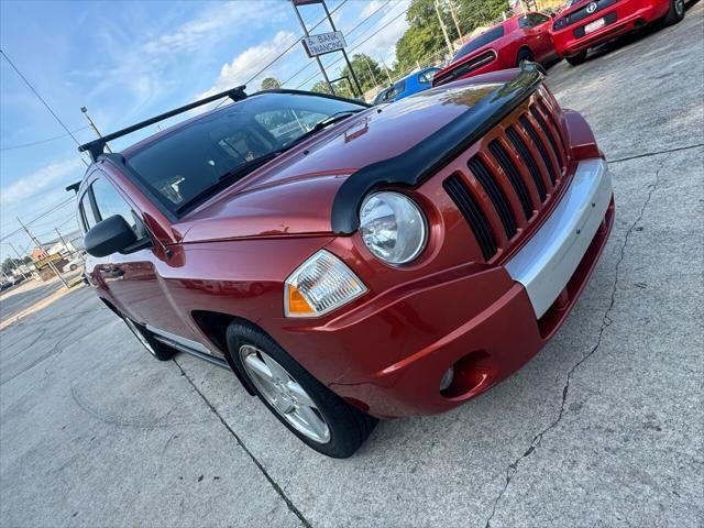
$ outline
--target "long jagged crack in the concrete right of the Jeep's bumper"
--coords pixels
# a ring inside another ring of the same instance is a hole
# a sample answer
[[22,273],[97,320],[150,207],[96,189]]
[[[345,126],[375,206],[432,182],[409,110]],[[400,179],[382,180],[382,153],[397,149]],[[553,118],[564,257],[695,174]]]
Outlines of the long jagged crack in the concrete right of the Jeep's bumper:
[[506,481],[505,481],[504,486],[502,487],[501,492],[498,493],[498,495],[494,499],[494,505],[492,507],[492,513],[488,516],[488,518],[486,519],[486,524],[484,525],[484,528],[491,528],[492,519],[494,518],[494,515],[496,514],[496,508],[498,507],[498,503],[501,502],[501,499],[503,498],[504,494],[506,493],[506,490],[508,488],[508,485],[510,484],[510,481],[513,480],[513,477],[518,472],[518,465],[520,464],[520,462],[524,461],[525,459],[527,459],[528,457],[530,457],[536,451],[536,449],[538,449],[538,447],[540,446],[540,442],[542,441],[542,438],[544,437],[544,435],[550,432],[550,430],[552,430],[554,427],[557,427],[558,424],[560,424],[560,421],[562,420],[562,417],[564,416],[564,407],[565,407],[566,400],[568,400],[568,394],[569,394],[569,391],[570,391],[570,382],[572,380],[572,375],[574,374],[574,372],[586,360],[588,360],[592,355],[594,355],[594,353],[601,346],[602,338],[604,336],[604,331],[613,322],[612,319],[608,316],[610,315],[612,309],[614,308],[614,304],[616,302],[616,290],[618,289],[618,283],[619,283],[618,273],[619,273],[619,270],[620,270],[620,264],[622,264],[622,262],[624,261],[624,258],[626,256],[626,246],[628,245],[628,240],[630,239],[630,234],[636,229],[638,223],[642,220],[642,217],[644,217],[644,215],[646,212],[646,208],[648,207],[648,205],[650,204],[650,200],[652,198],[652,194],[654,193],[654,190],[658,188],[658,185],[660,184],[660,170],[662,170],[662,168],[664,167],[664,164],[667,163],[667,161],[669,158],[670,158],[670,154],[668,153],[668,155],[664,157],[664,160],[662,160],[662,163],[660,163],[660,166],[656,170],[654,183],[652,183],[652,184],[650,184],[648,186],[649,187],[648,196],[646,197],[646,200],[644,201],[642,206],[640,207],[640,211],[638,213],[638,217],[636,218],[636,220],[634,220],[634,222],[626,230],[626,235],[624,237],[624,243],[620,246],[618,261],[616,261],[615,277],[614,277],[614,285],[612,287],[610,302],[609,302],[608,307],[606,308],[606,310],[604,310],[604,317],[602,318],[602,324],[601,324],[601,327],[598,329],[598,336],[596,338],[596,343],[568,372],[565,384],[564,384],[564,387],[562,388],[562,402],[560,403],[560,413],[558,414],[558,417],[550,425],[548,425],[544,429],[542,429],[535,437],[532,437],[532,440],[530,441],[530,446],[528,447],[528,449],[520,457],[518,457],[512,464],[509,464],[508,468],[506,468]]

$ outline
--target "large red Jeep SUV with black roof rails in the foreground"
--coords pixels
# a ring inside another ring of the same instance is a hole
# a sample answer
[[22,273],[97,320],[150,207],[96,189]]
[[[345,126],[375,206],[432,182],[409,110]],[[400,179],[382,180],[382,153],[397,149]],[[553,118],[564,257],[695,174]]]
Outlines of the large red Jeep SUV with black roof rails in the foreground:
[[[103,153],[219,97],[233,103]],[[614,218],[588,125],[531,63],[375,108],[235,88],[81,150],[98,296],[154,356],[232,370],[330,457],[520,369]]]

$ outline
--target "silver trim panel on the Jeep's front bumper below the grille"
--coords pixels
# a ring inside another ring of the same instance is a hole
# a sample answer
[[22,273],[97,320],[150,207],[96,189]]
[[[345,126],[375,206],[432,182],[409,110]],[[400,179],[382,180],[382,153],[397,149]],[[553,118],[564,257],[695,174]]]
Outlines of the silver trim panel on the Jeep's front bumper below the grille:
[[540,230],[505,264],[526,287],[539,319],[564,289],[612,201],[606,162],[580,162],[570,187]]

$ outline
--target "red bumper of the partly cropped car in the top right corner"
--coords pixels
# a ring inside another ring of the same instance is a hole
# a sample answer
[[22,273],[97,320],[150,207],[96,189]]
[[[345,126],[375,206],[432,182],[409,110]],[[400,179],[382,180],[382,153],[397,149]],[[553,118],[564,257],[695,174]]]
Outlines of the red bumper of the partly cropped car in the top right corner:
[[[663,16],[668,7],[667,0],[620,0],[578,23],[552,31],[552,41],[560,56],[574,55]],[[602,18],[606,20],[606,25],[593,33],[584,33],[585,25]]]

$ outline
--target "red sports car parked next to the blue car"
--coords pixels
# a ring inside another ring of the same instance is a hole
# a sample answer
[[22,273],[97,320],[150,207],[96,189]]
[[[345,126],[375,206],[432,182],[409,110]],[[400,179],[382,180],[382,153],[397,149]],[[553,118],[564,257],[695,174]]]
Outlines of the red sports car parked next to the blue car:
[[522,61],[540,63],[554,57],[550,20],[547,14],[530,12],[488,29],[458,51],[452,63],[436,74],[432,86],[515,68]]

